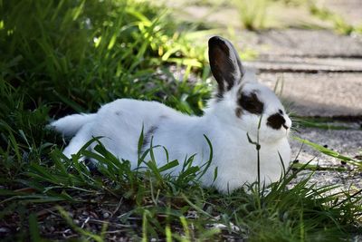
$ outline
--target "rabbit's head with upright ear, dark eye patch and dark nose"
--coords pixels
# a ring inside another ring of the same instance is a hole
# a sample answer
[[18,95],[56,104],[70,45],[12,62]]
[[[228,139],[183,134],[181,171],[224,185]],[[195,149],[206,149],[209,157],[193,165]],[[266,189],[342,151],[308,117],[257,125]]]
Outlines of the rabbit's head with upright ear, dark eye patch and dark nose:
[[218,83],[210,109],[218,119],[248,132],[254,139],[259,132],[260,140],[265,142],[288,135],[291,119],[280,100],[271,89],[245,73],[233,44],[219,36],[212,37],[209,61]]

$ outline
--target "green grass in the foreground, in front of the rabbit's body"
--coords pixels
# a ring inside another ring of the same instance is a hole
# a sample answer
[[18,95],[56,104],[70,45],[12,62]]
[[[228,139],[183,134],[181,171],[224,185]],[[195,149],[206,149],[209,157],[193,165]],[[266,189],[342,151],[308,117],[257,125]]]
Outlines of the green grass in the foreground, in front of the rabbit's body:
[[[268,189],[258,191],[258,186],[252,184],[245,190],[220,195],[212,189],[200,188],[195,178],[203,169],[193,166],[192,161],[180,179],[160,175],[161,170],[167,174],[167,169],[176,165],[172,162],[157,169],[153,165],[155,160],[142,160],[141,156],[139,164],[149,169],[134,171],[127,160],[116,159],[100,144],[96,150],[97,154],[83,149],[72,160],[63,158],[60,150],[53,150],[54,165],[31,164],[19,179],[27,190],[1,191],[2,195],[10,195],[2,202],[5,210],[12,207],[14,201],[18,201],[17,206],[55,206],[55,211],[65,219],[58,226],[71,227],[80,237],[97,237],[100,241],[117,223],[124,225],[123,235],[146,240],[172,237],[207,241],[231,236],[248,237],[251,241],[330,241],[357,232],[353,224],[360,216],[360,191],[329,194],[334,187],[317,188],[308,183],[309,178],[287,189],[291,179],[304,168],[297,173],[288,170],[284,179]],[[98,157],[100,174],[92,174],[78,162],[82,155]],[[115,218],[104,219],[102,227],[110,230],[104,228],[96,234],[77,226],[64,208],[57,205],[102,207],[101,201],[117,204],[119,199],[127,208]],[[39,208],[36,212],[40,213]],[[190,213],[197,217],[190,217]],[[212,228],[215,224],[224,227]]]

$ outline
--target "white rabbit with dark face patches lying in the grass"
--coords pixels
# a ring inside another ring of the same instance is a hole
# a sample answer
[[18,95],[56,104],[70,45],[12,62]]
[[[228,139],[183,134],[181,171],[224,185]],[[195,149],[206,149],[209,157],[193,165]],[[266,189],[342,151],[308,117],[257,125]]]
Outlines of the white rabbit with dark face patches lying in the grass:
[[[102,144],[116,157],[138,162],[138,138],[144,127],[143,149],[153,145],[166,147],[169,160],[178,160],[178,174],[186,156],[195,154],[194,165],[202,166],[214,150],[211,166],[200,179],[205,187],[232,191],[257,179],[257,150],[253,141],[259,133],[260,175],[269,184],[280,179],[282,164],[291,160],[288,134],[291,120],[277,96],[266,86],[249,80],[233,44],[219,36],[209,42],[211,71],[218,83],[214,99],[204,116],[175,111],[159,102],[119,99],[105,104],[97,113],[73,114],[51,126],[63,135],[74,136],[63,153],[76,153],[92,137],[102,136]],[[260,123],[260,127],[258,128]],[[91,149],[91,148],[90,148]],[[154,149],[157,165],[167,162],[163,148]],[[217,178],[214,180],[214,168]],[[167,170],[168,172],[169,170]]]

